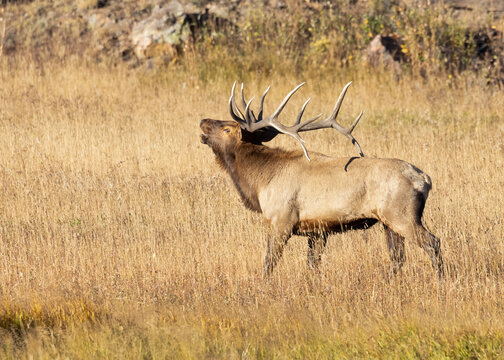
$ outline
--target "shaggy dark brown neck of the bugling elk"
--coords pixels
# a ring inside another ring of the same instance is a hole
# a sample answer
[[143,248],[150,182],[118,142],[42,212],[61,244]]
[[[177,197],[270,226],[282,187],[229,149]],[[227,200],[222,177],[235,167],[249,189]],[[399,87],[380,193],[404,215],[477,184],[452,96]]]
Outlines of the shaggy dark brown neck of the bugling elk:
[[299,157],[295,152],[240,142],[233,150],[215,152],[217,162],[226,170],[240,194],[243,204],[261,213],[258,193],[283,167],[289,158]]

